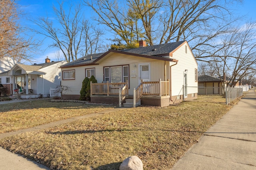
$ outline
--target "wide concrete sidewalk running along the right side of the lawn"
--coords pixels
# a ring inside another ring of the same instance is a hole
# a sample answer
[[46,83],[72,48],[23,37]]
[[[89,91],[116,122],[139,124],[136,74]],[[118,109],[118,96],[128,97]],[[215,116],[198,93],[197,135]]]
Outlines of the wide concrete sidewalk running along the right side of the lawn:
[[256,93],[246,92],[172,170],[256,170]]

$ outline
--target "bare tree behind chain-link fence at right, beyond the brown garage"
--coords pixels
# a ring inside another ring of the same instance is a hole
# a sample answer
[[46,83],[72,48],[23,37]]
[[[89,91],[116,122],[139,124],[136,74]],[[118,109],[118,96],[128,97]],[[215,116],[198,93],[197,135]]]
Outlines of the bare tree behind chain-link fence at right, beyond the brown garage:
[[256,71],[256,22],[250,22],[222,37],[211,62],[219,76],[226,74],[234,86]]

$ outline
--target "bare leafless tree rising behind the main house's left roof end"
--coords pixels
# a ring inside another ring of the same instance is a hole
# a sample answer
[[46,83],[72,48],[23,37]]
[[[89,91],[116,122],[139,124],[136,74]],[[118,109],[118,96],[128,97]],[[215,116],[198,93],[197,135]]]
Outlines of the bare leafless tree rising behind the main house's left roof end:
[[53,6],[54,22],[48,17],[41,17],[33,22],[40,27],[36,33],[52,39],[50,47],[56,47],[62,52],[67,62],[74,61],[87,53],[100,50],[99,41],[102,31],[94,29],[87,20],[80,5],[69,4],[69,10],[64,10],[64,4],[59,8]]

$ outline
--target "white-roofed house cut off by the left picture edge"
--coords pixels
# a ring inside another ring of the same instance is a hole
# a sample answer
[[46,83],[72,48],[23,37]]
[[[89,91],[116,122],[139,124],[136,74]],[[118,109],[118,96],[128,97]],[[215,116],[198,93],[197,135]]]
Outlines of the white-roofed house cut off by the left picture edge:
[[11,59],[10,57],[0,59],[0,84],[2,84],[4,88],[7,88],[7,96],[12,94],[12,76],[8,76],[7,72],[17,63],[17,61]]

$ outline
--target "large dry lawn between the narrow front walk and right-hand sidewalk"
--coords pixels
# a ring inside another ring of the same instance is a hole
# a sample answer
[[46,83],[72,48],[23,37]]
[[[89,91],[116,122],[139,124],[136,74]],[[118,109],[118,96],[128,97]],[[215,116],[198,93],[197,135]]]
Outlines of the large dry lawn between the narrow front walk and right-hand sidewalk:
[[145,170],[166,170],[231,107],[199,99],[124,109],[0,139],[0,146],[52,169],[118,170],[136,155]]

